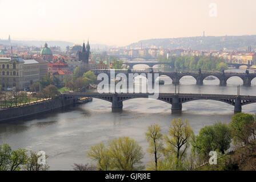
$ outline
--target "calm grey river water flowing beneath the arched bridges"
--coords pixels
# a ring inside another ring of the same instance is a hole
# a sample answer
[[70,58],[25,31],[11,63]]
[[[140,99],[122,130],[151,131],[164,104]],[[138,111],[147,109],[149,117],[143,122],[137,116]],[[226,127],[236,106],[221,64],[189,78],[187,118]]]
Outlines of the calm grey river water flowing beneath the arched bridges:
[[[229,71],[245,72],[242,69]],[[165,85],[159,85],[160,92],[174,93],[174,85],[169,77],[161,77]],[[190,76],[181,79],[181,93],[237,94],[241,78],[231,77],[227,86],[219,86],[219,80],[204,80],[204,85],[195,85]],[[256,78],[250,87],[241,86],[240,94],[256,96]],[[256,113],[256,104],[242,106],[245,113]],[[189,119],[195,134],[205,125],[222,121],[229,123],[234,114],[234,106],[211,100],[191,101],[182,104],[182,114],[172,115],[171,105],[163,101],[137,98],[123,102],[122,113],[112,113],[111,103],[93,99],[78,107],[70,107],[58,113],[44,114],[26,121],[0,123],[0,145],[8,143],[13,150],[43,150],[49,156],[50,170],[70,170],[73,163],[90,163],[86,152],[99,142],[107,143],[117,137],[131,137],[139,142],[146,153],[147,127],[158,123],[162,133],[174,118]],[[146,153],[143,162],[150,161]]]

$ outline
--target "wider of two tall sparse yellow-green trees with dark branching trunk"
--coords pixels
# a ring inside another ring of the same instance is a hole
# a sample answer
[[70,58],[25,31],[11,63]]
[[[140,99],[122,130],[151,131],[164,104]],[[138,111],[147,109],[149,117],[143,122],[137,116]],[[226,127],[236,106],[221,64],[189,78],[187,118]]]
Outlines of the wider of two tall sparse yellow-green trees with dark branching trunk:
[[181,118],[173,119],[169,127],[169,135],[165,135],[165,148],[167,155],[175,155],[177,162],[176,167],[181,163],[182,158],[186,155],[187,148],[193,139],[194,133],[186,119],[182,121]]

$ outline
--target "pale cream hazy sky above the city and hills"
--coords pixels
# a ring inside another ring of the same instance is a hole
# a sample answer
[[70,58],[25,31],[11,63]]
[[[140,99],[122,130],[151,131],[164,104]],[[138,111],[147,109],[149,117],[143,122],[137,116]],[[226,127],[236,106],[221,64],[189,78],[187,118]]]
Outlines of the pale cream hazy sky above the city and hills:
[[255,0],[0,0],[0,38],[125,46],[151,38],[256,34]]

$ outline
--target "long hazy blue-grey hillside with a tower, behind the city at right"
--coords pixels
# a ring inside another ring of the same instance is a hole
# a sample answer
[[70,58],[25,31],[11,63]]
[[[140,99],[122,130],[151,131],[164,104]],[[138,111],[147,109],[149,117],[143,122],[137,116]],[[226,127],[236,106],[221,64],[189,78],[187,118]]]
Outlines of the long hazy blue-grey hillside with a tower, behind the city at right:
[[130,44],[130,48],[191,48],[193,50],[222,50],[235,49],[243,50],[251,46],[251,49],[256,49],[256,35],[243,36],[197,36],[190,38],[173,38],[173,39],[149,39],[141,40],[137,43]]

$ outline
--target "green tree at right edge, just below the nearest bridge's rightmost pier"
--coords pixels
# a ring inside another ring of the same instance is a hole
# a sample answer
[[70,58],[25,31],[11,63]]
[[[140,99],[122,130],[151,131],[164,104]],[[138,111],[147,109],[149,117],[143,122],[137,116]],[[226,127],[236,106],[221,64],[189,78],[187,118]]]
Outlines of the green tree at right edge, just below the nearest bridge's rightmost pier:
[[233,115],[229,123],[234,142],[250,143],[250,138],[255,140],[255,119],[254,115],[246,113],[237,113]]

